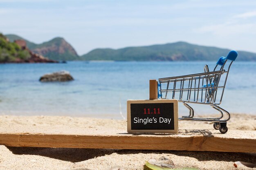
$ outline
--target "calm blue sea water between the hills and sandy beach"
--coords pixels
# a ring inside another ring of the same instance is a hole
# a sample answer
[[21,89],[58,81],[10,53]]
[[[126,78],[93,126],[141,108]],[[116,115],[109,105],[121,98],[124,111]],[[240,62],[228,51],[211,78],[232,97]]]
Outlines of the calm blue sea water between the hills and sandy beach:
[[[216,62],[68,62],[0,64],[0,114],[126,117],[127,99],[148,99],[149,79],[210,71]],[[41,83],[41,75],[70,71],[72,82]],[[234,62],[221,107],[256,114],[256,62]],[[215,113],[192,105],[195,113]],[[179,103],[179,114],[187,110]]]

